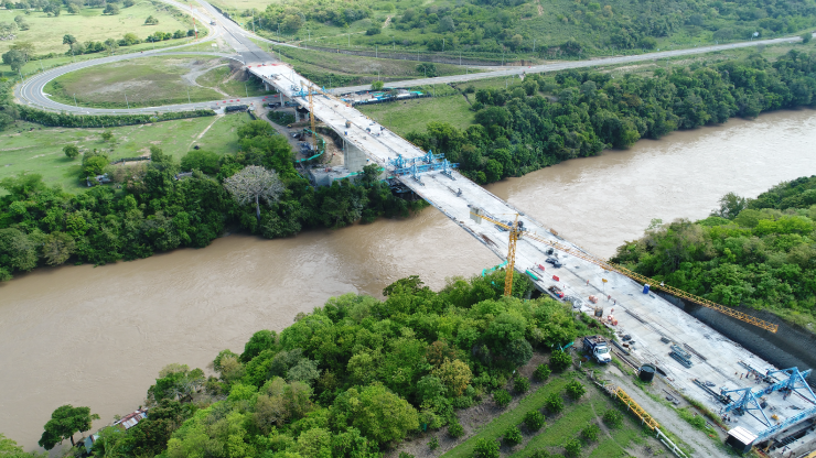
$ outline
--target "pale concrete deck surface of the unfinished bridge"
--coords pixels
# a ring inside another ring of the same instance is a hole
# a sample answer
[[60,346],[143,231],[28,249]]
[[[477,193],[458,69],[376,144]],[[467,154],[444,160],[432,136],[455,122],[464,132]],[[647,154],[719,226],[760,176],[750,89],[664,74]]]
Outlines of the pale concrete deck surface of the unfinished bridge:
[[[301,106],[309,106],[304,94],[311,83],[288,65],[268,64],[248,69]],[[358,168],[362,168],[361,164],[374,162],[388,173],[395,168],[390,164],[400,156],[410,160],[427,154],[335,97],[313,94],[312,98],[314,116],[337,132],[346,144],[353,145],[353,150],[367,156],[365,161],[351,161],[357,164]],[[351,166],[348,168],[352,172],[358,170]],[[701,402],[710,411],[717,413],[723,407],[712,392],[751,386],[759,390],[766,386],[764,383],[758,383],[753,377],[745,377],[749,367],[762,374],[777,369],[657,294],[643,294],[643,285],[633,280],[570,254],[590,253],[561,239],[541,222],[455,171],[450,176],[441,171],[427,172],[420,175],[421,182],[409,175],[400,176],[398,179],[501,259],[507,255],[508,233],[486,220],[471,218],[473,208],[480,208],[485,216],[496,220],[513,220],[518,214],[518,221],[523,222],[526,230],[566,247],[566,251],[558,252],[562,266],[554,269],[545,264],[549,246],[522,235],[516,246],[515,269],[520,273],[534,272],[537,279],[530,280],[543,292],[555,285],[561,288],[566,296],[580,298],[583,302],[583,312],[592,314],[595,306],[602,306],[603,318],[613,315],[613,319],[616,320],[613,328],[621,336],[631,336],[634,341],[627,351],[641,362],[658,367],[677,391]],[[543,271],[540,266],[545,266],[545,270]],[[589,304],[590,295],[600,299],[597,305]],[[688,353],[687,362],[681,363],[669,357],[672,345]],[[687,367],[689,361],[690,366]],[[802,368],[803,371],[805,369],[808,368]],[[695,379],[708,390],[695,383]],[[765,415],[759,412],[754,412],[756,416],[737,415],[731,412],[728,425],[742,426],[754,434],[760,434],[770,426],[807,414],[815,407],[812,402],[795,393],[784,396],[781,392],[773,392],[767,394],[764,401],[767,403],[763,410]],[[765,416],[771,425],[763,423],[762,418]],[[805,415],[798,418],[797,423],[812,416]],[[774,434],[781,433],[783,432],[777,430]]]

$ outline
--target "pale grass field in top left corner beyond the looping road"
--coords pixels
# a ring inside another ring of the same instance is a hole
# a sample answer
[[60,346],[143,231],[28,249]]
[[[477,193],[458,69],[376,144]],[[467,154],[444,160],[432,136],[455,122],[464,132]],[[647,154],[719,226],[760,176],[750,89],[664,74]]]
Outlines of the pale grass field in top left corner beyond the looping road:
[[[0,22],[11,22],[17,15],[23,15],[30,29],[18,31],[13,41],[0,42],[0,53],[20,41],[31,42],[34,54],[64,53],[68,46],[63,44],[63,35],[72,34],[80,43],[86,41],[104,42],[107,39],[121,39],[128,32],[136,33],[144,40],[155,31],[174,32],[192,29],[192,24],[182,23],[171,15],[164,8],[158,9],[149,1],[140,1],[130,8],[122,8],[116,15],[103,15],[101,8],[83,8],[78,14],[68,14],[63,10],[58,17],[49,17],[47,13],[34,12],[23,14],[22,10],[0,10]],[[158,25],[144,25],[144,19],[153,15],[159,20]]]

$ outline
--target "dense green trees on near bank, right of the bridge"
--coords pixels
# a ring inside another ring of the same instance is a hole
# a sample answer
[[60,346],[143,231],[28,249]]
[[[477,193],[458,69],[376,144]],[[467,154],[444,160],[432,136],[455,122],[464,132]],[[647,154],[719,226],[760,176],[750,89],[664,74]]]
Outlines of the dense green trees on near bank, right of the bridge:
[[816,176],[755,199],[727,195],[701,221],[659,225],[613,261],[729,306],[816,315]]

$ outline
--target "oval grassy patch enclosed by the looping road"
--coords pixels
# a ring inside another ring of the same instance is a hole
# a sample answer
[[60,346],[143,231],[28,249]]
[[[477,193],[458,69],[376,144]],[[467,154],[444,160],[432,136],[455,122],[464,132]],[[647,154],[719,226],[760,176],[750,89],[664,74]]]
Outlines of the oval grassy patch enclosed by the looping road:
[[[222,98],[224,94],[192,84],[200,75],[211,68],[224,65],[227,59],[195,56],[144,57],[117,62],[103,66],[85,68],[63,75],[49,83],[45,91],[54,100],[93,108],[154,107],[160,105],[186,103],[187,100],[210,101]],[[218,67],[227,74],[228,67]],[[198,78],[201,79],[201,78]],[[227,95],[244,95],[236,85],[212,84],[228,88]],[[125,97],[127,96],[127,102]],[[189,96],[189,98],[187,98]]]

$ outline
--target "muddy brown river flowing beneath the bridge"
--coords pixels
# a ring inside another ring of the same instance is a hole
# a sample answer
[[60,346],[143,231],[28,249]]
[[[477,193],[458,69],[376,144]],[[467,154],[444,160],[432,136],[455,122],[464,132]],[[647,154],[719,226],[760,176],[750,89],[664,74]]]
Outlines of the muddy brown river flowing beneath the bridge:
[[[704,218],[728,192],[755,196],[816,174],[815,150],[816,112],[781,111],[641,141],[490,190],[610,257],[653,218]],[[204,368],[334,295],[379,295],[411,274],[439,288],[498,262],[428,208],[407,220],[284,240],[232,235],[201,250],[20,275],[0,284],[0,432],[35,447],[63,404],[90,406],[100,427],[138,407],[168,363]]]

